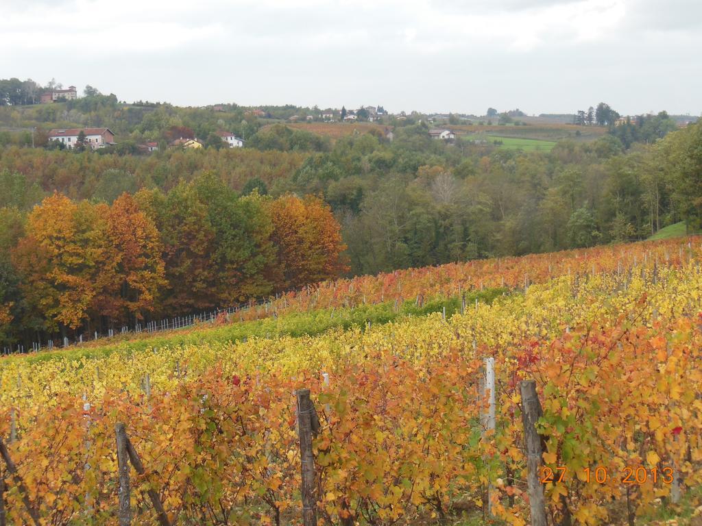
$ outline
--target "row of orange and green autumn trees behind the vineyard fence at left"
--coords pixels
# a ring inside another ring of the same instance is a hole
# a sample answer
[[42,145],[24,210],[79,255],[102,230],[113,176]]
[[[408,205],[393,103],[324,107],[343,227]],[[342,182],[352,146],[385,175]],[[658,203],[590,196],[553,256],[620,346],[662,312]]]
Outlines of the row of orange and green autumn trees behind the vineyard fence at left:
[[208,172],[112,204],[58,192],[0,209],[0,341],[106,332],[343,274],[340,226],[314,196],[239,196]]

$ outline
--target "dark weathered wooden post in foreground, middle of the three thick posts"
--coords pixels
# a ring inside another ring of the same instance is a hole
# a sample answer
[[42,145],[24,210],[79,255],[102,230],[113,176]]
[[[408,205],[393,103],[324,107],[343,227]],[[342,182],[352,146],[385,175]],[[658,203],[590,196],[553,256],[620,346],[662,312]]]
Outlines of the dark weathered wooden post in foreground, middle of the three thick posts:
[[303,525],[317,526],[317,499],[314,495],[314,456],[312,433],[319,431],[319,419],[310,400],[310,389],[298,389],[298,426],[300,426],[301,493],[303,500]]

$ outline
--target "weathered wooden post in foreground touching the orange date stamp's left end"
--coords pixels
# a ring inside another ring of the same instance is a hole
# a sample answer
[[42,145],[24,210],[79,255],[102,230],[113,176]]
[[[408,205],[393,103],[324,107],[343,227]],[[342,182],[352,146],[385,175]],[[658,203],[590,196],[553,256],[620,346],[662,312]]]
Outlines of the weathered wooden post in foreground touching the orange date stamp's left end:
[[536,396],[536,380],[519,383],[522,394],[522,424],[524,425],[524,445],[527,449],[527,488],[531,526],[546,526],[546,505],[543,498],[543,485],[539,479],[541,467],[541,436],[536,432],[536,421],[541,417],[541,403]]

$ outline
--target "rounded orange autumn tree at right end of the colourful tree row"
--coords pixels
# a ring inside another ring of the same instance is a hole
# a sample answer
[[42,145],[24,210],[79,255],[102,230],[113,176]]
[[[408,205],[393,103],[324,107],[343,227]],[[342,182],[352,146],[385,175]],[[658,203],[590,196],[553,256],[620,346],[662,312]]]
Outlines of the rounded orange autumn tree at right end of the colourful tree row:
[[269,209],[283,288],[324,281],[347,271],[340,226],[324,201],[287,195],[270,202]]

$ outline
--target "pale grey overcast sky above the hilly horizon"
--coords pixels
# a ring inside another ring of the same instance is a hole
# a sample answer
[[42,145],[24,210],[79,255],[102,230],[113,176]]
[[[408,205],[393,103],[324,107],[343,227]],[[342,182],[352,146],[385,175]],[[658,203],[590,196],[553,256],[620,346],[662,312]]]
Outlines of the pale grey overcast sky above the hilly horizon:
[[698,0],[0,0],[0,78],[119,100],[702,111]]

